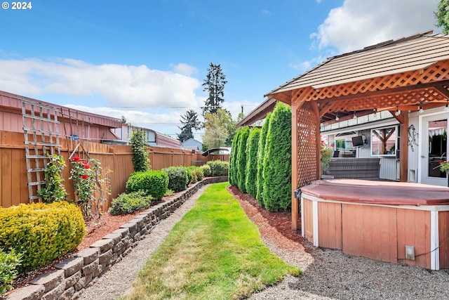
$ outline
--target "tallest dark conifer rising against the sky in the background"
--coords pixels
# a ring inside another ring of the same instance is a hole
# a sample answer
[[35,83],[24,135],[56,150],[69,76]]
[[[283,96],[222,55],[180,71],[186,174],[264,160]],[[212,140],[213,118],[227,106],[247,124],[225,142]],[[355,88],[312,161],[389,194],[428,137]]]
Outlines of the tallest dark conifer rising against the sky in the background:
[[203,115],[208,112],[215,114],[217,109],[222,108],[222,103],[225,101],[223,98],[225,96],[225,84],[227,84],[225,79],[226,76],[223,74],[222,67],[210,63],[208,74],[203,82],[203,91],[207,91],[209,94],[204,101]]

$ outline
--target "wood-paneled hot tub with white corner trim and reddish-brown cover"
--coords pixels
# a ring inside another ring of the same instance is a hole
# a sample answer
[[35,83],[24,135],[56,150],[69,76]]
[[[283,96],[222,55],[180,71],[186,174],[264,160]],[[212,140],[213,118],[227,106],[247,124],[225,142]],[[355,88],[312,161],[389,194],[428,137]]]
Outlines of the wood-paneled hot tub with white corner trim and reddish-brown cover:
[[449,188],[330,179],[314,181],[301,192],[302,236],[316,247],[449,268]]

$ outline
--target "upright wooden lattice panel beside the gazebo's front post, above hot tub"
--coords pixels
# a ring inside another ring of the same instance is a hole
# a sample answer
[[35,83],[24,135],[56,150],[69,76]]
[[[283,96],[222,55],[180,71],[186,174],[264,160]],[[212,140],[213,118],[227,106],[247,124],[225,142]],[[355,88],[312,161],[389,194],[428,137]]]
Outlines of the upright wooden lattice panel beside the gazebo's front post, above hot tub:
[[[307,102],[297,111],[297,187],[319,178],[320,157],[316,149],[319,126],[312,104]],[[294,168],[294,167],[293,167]],[[295,183],[293,183],[294,185]]]

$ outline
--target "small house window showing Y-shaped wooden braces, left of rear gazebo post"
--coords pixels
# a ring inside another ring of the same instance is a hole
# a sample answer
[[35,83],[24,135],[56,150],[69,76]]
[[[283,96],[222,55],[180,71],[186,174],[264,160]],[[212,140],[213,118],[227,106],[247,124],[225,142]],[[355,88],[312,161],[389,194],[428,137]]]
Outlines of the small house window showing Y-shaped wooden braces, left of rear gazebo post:
[[371,129],[371,155],[396,155],[397,127]]

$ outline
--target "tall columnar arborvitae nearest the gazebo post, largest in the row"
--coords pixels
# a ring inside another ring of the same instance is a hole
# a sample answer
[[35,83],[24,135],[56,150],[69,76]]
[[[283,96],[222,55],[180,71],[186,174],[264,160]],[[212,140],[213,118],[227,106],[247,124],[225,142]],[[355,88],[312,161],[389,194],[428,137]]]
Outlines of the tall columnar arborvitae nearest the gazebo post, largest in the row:
[[290,106],[277,103],[264,150],[263,201],[269,211],[291,207],[291,119]]

